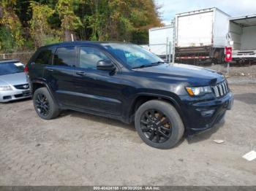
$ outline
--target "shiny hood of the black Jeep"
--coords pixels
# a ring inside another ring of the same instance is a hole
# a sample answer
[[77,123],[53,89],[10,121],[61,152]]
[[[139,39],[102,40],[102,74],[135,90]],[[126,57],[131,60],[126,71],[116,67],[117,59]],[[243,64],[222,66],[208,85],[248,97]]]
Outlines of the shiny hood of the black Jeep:
[[217,83],[225,80],[225,77],[220,72],[180,63],[166,63],[135,70],[157,74],[159,78],[166,79],[170,77],[170,79],[186,81],[189,85],[195,86],[216,85]]

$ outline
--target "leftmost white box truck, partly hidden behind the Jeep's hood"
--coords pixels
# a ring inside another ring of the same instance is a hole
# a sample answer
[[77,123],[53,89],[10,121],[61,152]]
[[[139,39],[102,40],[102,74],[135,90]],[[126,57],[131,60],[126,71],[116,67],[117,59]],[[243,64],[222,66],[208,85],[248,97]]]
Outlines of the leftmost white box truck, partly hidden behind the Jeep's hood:
[[[149,50],[161,58],[173,54],[173,24],[148,30]],[[169,57],[168,56],[168,57]]]

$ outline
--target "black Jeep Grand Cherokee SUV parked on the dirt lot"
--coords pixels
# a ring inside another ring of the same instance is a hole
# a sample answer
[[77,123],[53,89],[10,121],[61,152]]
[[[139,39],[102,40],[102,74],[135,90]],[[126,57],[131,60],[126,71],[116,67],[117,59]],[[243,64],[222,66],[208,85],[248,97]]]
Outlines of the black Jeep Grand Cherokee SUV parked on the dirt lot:
[[135,122],[140,138],[160,149],[212,128],[233,104],[222,74],[165,63],[135,44],[52,44],[37,50],[26,71],[42,119],[72,109]]

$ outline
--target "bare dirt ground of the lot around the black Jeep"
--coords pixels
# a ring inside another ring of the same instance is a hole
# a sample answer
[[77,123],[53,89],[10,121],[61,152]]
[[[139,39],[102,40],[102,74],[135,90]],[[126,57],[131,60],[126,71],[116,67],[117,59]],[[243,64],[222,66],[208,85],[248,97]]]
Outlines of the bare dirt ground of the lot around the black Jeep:
[[230,87],[225,123],[169,150],[116,120],[64,112],[44,121],[30,100],[0,104],[0,185],[255,185],[256,160],[241,156],[256,150],[256,84]]

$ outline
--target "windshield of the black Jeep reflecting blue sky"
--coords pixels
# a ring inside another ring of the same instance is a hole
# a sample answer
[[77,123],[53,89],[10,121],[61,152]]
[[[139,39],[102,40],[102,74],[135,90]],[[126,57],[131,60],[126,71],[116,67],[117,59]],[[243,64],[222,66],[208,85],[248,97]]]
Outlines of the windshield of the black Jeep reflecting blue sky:
[[102,45],[133,69],[164,63],[157,55],[135,44],[106,43]]

